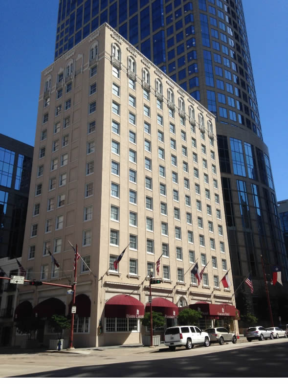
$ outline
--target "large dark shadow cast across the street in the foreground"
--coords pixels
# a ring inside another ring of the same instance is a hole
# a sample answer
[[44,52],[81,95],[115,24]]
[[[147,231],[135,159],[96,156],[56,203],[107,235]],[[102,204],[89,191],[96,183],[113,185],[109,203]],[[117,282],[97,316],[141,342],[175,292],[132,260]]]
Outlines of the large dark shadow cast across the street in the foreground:
[[287,377],[287,351],[288,343],[255,345],[200,356],[77,366],[11,377]]

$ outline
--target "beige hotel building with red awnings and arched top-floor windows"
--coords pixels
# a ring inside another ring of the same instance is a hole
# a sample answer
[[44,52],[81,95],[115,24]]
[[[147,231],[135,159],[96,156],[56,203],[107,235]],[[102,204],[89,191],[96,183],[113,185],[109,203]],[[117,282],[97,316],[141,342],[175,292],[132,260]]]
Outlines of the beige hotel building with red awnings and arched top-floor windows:
[[[188,305],[206,308],[202,328],[234,319],[233,285],[221,283],[230,258],[215,118],[108,24],[41,77],[22,254],[29,278],[72,281],[69,242],[91,270],[79,260],[76,347],[142,341],[151,269],[166,326]],[[195,263],[199,272],[207,264],[200,285]],[[39,319],[67,314],[66,291],[25,285],[20,305]],[[50,332],[43,320],[39,340]]]

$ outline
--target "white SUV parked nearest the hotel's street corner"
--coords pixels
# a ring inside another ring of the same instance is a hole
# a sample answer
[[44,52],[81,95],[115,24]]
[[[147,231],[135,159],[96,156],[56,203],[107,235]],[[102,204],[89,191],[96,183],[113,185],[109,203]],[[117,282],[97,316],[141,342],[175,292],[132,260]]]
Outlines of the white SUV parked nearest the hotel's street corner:
[[207,332],[201,331],[195,325],[183,325],[167,328],[164,334],[164,344],[171,351],[176,347],[185,346],[186,349],[192,349],[196,344],[202,344],[209,347],[210,338]]

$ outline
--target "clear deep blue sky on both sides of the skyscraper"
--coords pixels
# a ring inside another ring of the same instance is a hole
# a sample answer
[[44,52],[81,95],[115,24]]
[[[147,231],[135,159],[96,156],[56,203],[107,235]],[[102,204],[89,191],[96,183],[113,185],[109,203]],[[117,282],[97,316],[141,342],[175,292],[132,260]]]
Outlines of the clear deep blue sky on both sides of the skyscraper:
[[[34,146],[41,71],[54,59],[58,0],[1,1],[0,133]],[[243,0],[264,142],[288,199],[288,0]],[[285,117],[286,116],[286,117]]]

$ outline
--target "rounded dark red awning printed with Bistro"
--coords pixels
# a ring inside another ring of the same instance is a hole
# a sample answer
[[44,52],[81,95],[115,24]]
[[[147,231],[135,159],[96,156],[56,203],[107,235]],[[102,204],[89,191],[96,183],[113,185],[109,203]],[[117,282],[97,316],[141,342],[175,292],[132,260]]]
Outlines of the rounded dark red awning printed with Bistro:
[[105,303],[105,317],[142,318],[144,305],[128,294],[116,294]]

